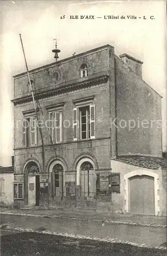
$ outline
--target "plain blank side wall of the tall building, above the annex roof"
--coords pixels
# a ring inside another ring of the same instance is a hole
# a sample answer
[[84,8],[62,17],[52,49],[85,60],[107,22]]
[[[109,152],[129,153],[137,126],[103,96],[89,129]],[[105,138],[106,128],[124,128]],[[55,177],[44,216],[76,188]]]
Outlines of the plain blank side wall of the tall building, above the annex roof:
[[115,72],[117,155],[161,157],[160,95],[117,56]]

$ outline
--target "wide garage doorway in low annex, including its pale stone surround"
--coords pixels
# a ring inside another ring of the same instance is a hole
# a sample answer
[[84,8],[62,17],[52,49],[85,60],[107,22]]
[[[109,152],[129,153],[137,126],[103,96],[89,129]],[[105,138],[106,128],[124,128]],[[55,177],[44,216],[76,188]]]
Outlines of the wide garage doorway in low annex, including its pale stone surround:
[[125,210],[130,214],[158,215],[158,174],[137,169],[124,176]]

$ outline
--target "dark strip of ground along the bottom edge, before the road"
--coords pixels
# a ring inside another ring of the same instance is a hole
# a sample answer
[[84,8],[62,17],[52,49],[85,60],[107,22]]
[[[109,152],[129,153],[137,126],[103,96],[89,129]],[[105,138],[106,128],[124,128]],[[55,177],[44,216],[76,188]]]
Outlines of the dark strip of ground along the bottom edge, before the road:
[[50,234],[19,232],[2,234],[1,255],[166,255],[165,250],[72,239]]

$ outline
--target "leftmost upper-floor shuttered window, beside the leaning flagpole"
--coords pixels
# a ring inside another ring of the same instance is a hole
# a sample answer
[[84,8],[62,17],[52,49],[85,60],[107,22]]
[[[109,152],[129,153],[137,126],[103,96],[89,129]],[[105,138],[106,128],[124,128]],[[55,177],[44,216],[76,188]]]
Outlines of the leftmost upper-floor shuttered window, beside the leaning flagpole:
[[37,119],[29,117],[23,120],[22,126],[22,143],[23,146],[37,145]]

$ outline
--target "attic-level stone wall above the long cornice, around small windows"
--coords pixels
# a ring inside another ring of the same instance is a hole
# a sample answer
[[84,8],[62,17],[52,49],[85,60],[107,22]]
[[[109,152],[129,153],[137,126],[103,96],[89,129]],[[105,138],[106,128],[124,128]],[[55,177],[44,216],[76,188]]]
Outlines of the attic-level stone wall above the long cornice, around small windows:
[[[30,79],[35,82],[35,89],[37,92],[55,89],[68,84],[69,82],[80,82],[87,78],[80,78],[80,67],[83,63],[88,66],[89,78],[93,76],[100,76],[103,72],[108,70],[108,47],[100,50],[85,52],[82,55],[76,55],[71,58],[57,61],[51,65],[40,67],[36,70],[30,71]],[[113,51],[112,47],[112,51]],[[60,73],[58,83],[52,83],[52,75],[54,72]],[[27,73],[20,74],[14,78],[14,98],[19,98],[31,94],[30,86],[28,86]]]

